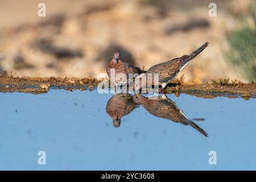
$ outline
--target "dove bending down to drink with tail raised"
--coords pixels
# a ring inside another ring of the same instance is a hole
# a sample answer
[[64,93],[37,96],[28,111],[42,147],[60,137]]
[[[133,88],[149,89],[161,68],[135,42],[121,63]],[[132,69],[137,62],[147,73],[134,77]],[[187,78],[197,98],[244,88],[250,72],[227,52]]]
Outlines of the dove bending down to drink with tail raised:
[[[160,63],[152,66],[147,70],[146,73],[142,73],[137,78],[135,78],[135,81],[138,81],[138,84],[135,84],[135,90],[138,90],[142,86],[145,86],[143,85],[141,78],[151,73],[152,78],[147,79],[147,85],[150,85],[155,81],[155,84],[162,86],[161,88],[159,88],[159,92],[163,92],[166,85],[170,84],[170,82],[177,77],[179,72],[182,71],[182,69],[189,63],[189,61],[191,61],[200,52],[202,52],[208,46],[208,44],[209,44],[208,42],[204,43],[203,46],[197,48],[196,51],[192,52],[190,55],[184,55],[184,56],[172,59],[170,61],[166,61],[164,63]],[[158,81],[156,81],[157,79],[154,79],[154,73],[158,73],[158,76],[159,76]]]

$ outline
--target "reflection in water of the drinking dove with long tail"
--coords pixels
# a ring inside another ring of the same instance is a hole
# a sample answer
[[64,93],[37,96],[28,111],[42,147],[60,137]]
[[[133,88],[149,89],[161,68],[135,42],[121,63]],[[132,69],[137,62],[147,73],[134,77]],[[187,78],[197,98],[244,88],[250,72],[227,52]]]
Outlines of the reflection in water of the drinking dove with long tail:
[[142,94],[134,94],[133,100],[135,104],[141,104],[143,107],[152,115],[156,117],[170,119],[176,123],[181,123],[183,125],[190,125],[205,137],[208,134],[201,129],[196,123],[188,119],[188,117],[183,113],[182,110],[177,107],[174,101],[167,98],[165,95],[163,97],[147,98],[143,97]]

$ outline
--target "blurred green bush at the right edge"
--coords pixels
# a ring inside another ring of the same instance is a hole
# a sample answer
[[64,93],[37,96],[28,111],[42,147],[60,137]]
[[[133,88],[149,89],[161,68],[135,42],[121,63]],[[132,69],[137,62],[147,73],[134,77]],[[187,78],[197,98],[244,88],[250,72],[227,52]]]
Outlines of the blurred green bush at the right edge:
[[228,59],[230,63],[240,68],[248,80],[256,80],[256,3],[251,2],[249,7],[250,23],[228,32],[226,35],[230,47]]

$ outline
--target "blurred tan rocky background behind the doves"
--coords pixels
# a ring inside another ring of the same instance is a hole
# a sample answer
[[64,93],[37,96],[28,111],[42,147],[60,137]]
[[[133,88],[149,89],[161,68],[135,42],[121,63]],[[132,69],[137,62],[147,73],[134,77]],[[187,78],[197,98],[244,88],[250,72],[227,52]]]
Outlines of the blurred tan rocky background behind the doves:
[[[46,3],[46,17],[38,4]],[[0,71],[31,77],[97,77],[114,51],[154,64],[209,46],[184,68],[185,80],[256,80],[252,0],[0,1]]]

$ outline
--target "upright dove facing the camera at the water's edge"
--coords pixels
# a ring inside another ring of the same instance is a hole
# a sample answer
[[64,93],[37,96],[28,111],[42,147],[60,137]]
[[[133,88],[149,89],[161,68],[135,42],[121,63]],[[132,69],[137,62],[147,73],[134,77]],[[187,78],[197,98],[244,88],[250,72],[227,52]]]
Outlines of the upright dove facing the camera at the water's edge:
[[129,73],[133,73],[133,74],[137,73],[138,75],[140,75],[141,73],[146,73],[146,71],[141,70],[141,68],[135,67],[133,65],[129,65],[128,63],[123,61],[121,58],[120,52],[114,52],[112,60],[106,67],[106,72],[108,73],[109,78],[112,79],[110,77],[110,69],[114,69],[115,80],[112,80],[112,81],[115,84],[121,81],[117,78],[118,73],[125,74],[127,77],[127,82],[129,79],[129,75],[128,75]]

